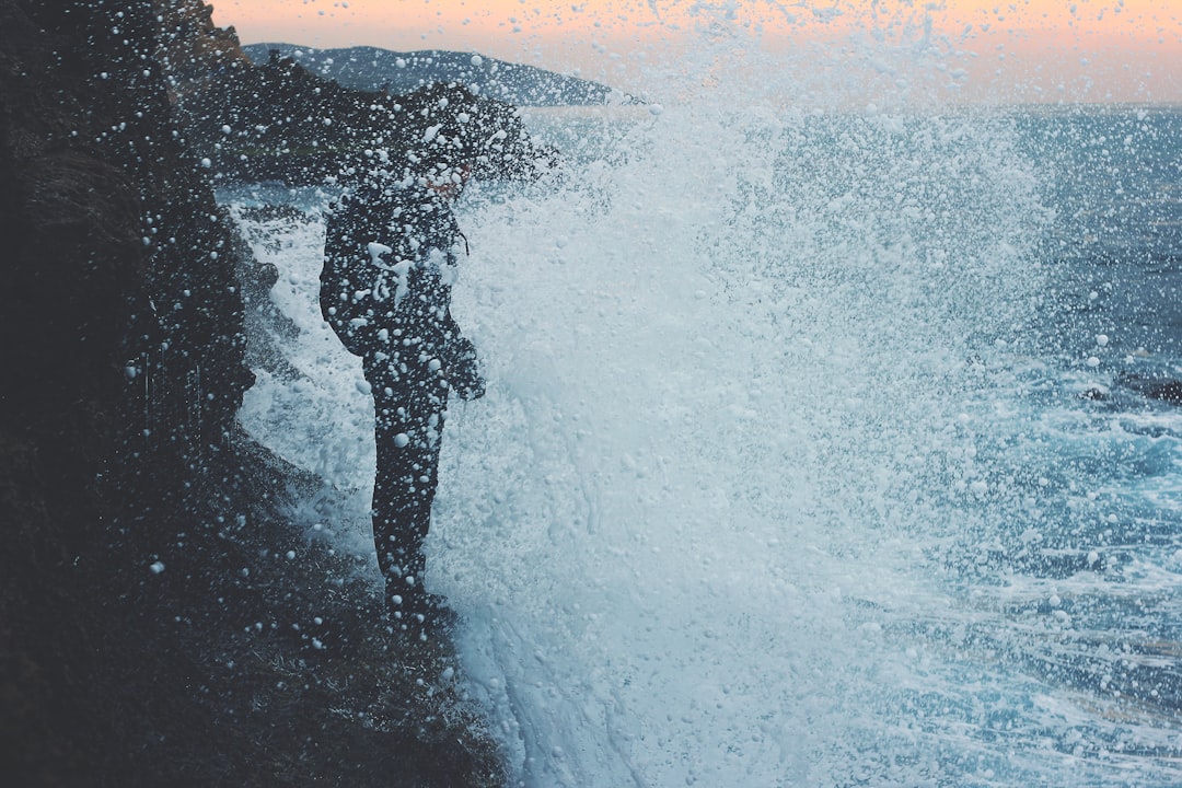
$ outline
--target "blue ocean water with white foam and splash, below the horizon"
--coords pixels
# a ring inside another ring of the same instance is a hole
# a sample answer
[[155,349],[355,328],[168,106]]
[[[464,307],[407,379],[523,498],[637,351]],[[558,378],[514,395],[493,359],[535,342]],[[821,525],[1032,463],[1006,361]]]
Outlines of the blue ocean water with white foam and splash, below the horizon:
[[[514,780],[1182,784],[1182,115],[530,122],[563,171],[459,209],[426,580]],[[280,271],[241,421],[368,556],[331,196],[222,194]]]

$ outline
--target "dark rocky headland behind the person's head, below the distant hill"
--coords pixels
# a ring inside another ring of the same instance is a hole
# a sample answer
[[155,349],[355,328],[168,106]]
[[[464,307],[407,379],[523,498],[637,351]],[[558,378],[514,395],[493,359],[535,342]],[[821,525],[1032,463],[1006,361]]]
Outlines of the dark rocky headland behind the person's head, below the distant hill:
[[[254,64],[233,30],[214,27],[197,0],[158,5],[170,8],[160,51],[177,118],[222,183],[348,183],[375,165],[376,152],[402,156],[424,131],[426,103],[447,90],[443,83],[401,95],[359,90],[278,50]],[[468,111],[483,141],[478,177],[532,178],[553,163],[556,151],[534,145],[515,106],[479,96]]]

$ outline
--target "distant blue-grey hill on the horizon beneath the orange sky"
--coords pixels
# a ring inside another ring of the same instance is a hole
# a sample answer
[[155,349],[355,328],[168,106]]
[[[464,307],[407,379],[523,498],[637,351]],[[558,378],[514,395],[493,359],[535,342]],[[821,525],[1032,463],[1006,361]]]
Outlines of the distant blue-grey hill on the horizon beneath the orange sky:
[[599,83],[463,52],[316,50],[294,44],[251,44],[242,51],[260,65],[277,51],[319,77],[365,91],[404,93],[435,82],[459,82],[517,106],[596,105],[612,99],[612,90]]

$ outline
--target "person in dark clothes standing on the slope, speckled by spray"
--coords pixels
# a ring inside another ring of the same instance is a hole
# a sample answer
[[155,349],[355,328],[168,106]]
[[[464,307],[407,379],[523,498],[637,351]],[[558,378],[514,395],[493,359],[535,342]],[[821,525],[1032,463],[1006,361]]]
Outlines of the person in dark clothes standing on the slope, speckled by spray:
[[374,397],[374,542],[387,605],[403,629],[452,618],[423,587],[422,548],[449,395],[485,392],[475,347],[450,310],[468,247],[452,203],[479,158],[470,100],[456,86],[420,96],[426,109],[414,117],[422,121],[407,132],[415,144],[400,167],[388,159],[370,169],[339,200],[325,236],[320,307],[362,357]]

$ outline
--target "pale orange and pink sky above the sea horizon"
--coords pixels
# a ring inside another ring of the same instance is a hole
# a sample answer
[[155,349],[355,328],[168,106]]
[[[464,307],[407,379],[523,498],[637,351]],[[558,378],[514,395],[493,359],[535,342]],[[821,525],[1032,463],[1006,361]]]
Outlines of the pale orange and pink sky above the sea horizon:
[[1182,104],[1182,0],[216,0],[214,22],[243,44],[473,51],[629,91],[758,54],[868,91]]

